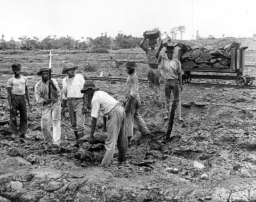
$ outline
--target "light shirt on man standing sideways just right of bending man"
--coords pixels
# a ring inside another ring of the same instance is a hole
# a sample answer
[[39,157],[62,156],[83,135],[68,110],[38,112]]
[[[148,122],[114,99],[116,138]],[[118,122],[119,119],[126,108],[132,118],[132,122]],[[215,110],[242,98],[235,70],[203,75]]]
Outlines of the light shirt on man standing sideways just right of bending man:
[[134,98],[139,98],[139,84],[136,73],[129,75],[125,84],[125,97],[132,95]]

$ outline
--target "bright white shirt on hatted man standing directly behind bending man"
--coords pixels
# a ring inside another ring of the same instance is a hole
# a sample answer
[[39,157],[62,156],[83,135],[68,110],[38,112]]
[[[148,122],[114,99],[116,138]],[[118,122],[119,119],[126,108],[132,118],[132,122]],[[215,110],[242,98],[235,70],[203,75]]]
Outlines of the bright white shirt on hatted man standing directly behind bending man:
[[81,89],[84,86],[84,77],[81,74],[76,74],[72,78],[65,77],[62,80],[62,98],[67,100],[67,98],[82,98],[83,93]]

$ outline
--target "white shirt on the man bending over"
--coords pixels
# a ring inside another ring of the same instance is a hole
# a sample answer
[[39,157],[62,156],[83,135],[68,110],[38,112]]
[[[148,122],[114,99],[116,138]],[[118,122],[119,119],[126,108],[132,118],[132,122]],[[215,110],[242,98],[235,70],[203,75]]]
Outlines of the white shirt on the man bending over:
[[95,91],[92,97],[92,113],[91,116],[99,118],[99,113],[103,116],[107,116],[109,111],[118,104],[111,95],[104,91]]

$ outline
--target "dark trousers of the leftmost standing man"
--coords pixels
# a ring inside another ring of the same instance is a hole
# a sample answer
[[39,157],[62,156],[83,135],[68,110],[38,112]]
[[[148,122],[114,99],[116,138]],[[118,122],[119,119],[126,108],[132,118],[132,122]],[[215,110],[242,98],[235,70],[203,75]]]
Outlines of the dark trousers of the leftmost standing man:
[[28,130],[28,117],[26,107],[26,96],[25,95],[12,95],[12,105],[14,111],[10,111],[10,132],[17,133],[17,111],[20,113],[20,133],[26,134]]

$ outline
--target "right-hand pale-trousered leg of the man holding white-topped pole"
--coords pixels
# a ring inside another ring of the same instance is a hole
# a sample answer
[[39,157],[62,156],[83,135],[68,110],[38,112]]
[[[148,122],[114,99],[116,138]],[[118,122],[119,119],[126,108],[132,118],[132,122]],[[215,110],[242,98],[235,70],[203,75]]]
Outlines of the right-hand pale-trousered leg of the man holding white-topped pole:
[[61,142],[60,120],[61,120],[61,106],[60,106],[60,102],[58,101],[52,105],[53,143],[58,145],[60,145],[60,142]]

